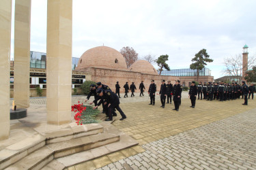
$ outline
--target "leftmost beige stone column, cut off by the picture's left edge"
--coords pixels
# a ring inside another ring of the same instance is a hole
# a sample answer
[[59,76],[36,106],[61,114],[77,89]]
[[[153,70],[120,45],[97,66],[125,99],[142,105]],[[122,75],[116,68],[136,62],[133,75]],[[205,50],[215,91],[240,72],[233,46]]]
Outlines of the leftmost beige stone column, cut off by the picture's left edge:
[[12,0],[0,1],[0,141],[10,135],[10,47]]

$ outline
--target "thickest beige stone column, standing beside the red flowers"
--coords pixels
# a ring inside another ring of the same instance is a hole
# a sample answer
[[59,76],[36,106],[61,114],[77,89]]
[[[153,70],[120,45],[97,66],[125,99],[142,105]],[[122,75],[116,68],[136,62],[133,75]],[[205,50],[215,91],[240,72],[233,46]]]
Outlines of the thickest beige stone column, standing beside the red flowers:
[[71,121],[72,0],[47,1],[47,122]]

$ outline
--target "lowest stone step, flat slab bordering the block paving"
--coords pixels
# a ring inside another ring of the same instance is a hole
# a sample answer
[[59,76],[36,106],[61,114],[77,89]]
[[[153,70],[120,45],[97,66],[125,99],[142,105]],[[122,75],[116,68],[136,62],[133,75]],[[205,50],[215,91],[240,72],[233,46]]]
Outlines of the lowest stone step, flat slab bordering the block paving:
[[128,135],[121,135],[120,140],[116,141],[115,143],[109,143],[105,146],[100,146],[98,148],[93,148],[91,150],[57,158],[56,160],[46,165],[43,169],[44,170],[53,169],[55,165],[59,167],[59,169],[68,168],[68,167],[77,165],[79,163],[84,163],[88,160],[93,160],[95,158],[99,158],[106,154],[111,154],[113,152],[124,150],[126,148],[130,148],[132,146],[137,146],[137,145],[138,145],[138,142],[132,139],[132,137]]

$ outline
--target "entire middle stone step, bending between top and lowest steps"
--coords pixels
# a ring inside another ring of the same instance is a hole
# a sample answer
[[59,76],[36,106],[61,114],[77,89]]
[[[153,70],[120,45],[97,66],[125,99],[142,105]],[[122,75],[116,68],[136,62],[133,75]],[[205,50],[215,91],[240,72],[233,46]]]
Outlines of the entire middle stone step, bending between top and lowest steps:
[[119,135],[100,133],[98,135],[90,135],[68,141],[61,141],[59,143],[51,143],[39,150],[36,150],[28,156],[25,156],[25,158],[22,158],[13,165],[10,165],[7,169],[41,169],[54,158],[83,152],[115,141],[119,141]]

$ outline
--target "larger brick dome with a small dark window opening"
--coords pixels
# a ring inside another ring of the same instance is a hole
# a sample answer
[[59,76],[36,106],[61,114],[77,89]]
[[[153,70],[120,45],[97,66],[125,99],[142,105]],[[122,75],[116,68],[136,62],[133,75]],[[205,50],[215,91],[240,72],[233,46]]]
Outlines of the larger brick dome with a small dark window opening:
[[91,48],[83,53],[76,69],[86,67],[127,70],[124,56],[117,50],[106,46]]

